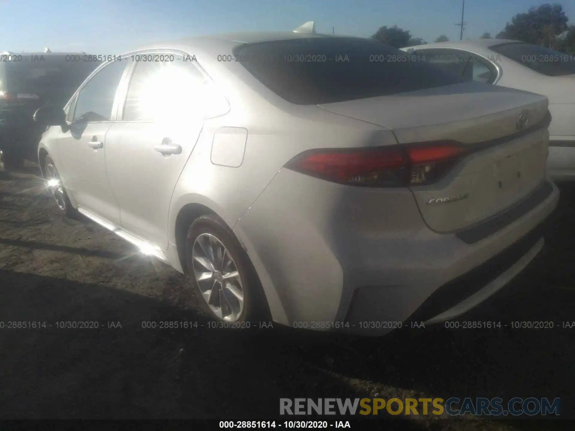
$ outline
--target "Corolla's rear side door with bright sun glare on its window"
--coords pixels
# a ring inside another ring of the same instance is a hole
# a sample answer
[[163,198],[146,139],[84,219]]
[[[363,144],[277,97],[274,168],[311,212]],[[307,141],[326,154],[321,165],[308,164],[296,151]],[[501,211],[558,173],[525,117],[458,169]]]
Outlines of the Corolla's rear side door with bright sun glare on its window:
[[[204,124],[206,76],[178,53],[135,61],[125,104],[106,134],[106,167],[123,229],[162,249],[175,184]],[[142,53],[147,58],[154,53]],[[120,119],[121,116],[121,119]]]

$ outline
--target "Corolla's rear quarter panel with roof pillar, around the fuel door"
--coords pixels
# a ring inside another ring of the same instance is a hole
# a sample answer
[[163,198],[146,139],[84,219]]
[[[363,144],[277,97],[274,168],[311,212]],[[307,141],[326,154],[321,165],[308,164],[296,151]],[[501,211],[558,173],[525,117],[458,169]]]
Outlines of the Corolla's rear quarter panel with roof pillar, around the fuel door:
[[[306,149],[396,143],[393,134],[379,126],[327,113],[315,105],[298,106],[284,101],[239,61],[217,61],[218,55],[231,55],[237,44],[214,39],[203,41],[200,48],[171,47],[196,55],[230,106],[224,116],[205,120],[198,143],[174,188],[168,217],[171,244],[175,244],[175,221],[183,206],[201,203],[233,228],[274,175]],[[248,131],[244,157],[238,167],[212,163],[214,133],[226,127]],[[384,136],[382,132],[388,133]]]

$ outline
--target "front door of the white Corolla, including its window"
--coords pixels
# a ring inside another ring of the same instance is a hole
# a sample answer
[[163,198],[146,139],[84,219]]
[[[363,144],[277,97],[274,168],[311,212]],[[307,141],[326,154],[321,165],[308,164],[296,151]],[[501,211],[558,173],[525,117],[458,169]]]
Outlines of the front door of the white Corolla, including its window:
[[79,207],[120,224],[120,208],[106,174],[106,133],[116,117],[118,85],[128,60],[112,61],[85,83],[70,105],[68,130],[56,138],[58,169]]

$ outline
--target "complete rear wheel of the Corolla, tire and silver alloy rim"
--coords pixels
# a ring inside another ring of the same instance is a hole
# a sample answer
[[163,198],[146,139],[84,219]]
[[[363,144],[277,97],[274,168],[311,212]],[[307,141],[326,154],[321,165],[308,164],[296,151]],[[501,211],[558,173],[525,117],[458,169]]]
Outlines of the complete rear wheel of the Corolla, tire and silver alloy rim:
[[266,318],[267,302],[246,252],[221,218],[197,218],[188,229],[186,265],[204,309],[224,322]]

